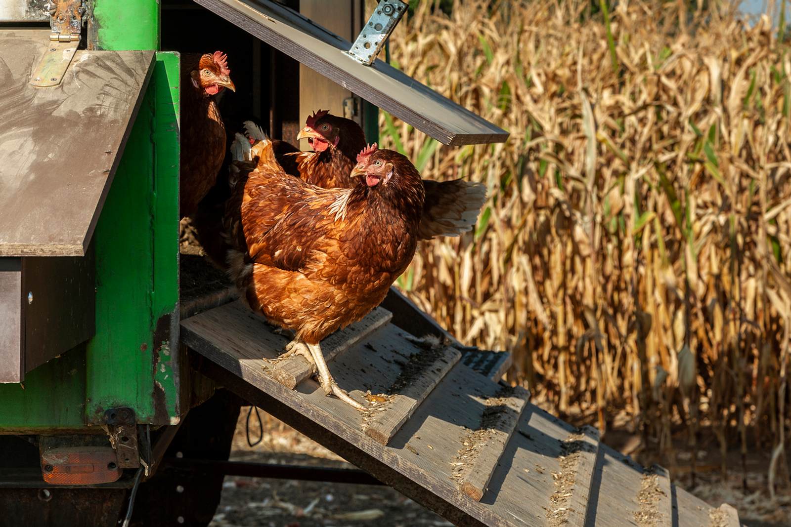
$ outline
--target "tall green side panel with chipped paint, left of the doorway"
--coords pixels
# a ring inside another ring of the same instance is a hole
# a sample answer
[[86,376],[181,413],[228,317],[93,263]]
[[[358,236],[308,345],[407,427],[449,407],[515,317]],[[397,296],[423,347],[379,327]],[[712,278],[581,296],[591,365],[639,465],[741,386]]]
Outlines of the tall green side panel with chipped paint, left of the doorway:
[[86,420],[129,406],[138,422],[178,416],[179,57],[158,53],[97,224],[97,336],[86,353]]

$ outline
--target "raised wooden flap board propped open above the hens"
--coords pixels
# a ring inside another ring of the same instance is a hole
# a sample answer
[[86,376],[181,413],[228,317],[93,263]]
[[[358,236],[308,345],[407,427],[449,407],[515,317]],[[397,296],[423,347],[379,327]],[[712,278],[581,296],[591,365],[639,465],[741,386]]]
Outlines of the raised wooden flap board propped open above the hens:
[[225,20],[445,145],[503,142],[508,133],[378,60],[363,66],[351,43],[268,0],[195,0]]

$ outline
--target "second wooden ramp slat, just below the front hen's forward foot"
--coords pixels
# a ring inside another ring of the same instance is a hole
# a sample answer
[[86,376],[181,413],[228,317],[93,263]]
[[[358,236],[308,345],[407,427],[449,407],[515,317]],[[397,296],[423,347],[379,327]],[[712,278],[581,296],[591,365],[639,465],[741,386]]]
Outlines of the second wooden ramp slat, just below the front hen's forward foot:
[[[381,405],[371,408],[363,420],[365,434],[387,445],[395,432],[410,418],[415,408],[428,397],[431,390],[445,378],[461,358],[455,348],[423,349],[411,357]],[[394,393],[395,392],[395,393]]]

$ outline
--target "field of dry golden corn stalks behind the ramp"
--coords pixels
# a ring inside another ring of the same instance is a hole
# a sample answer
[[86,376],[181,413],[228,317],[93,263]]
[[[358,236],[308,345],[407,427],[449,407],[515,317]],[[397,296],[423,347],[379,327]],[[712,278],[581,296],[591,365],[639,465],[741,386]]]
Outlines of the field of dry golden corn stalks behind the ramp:
[[381,115],[382,144],[424,178],[489,193],[475,232],[425,243],[399,286],[465,344],[513,353],[511,380],[559,411],[602,431],[625,411],[664,454],[706,427],[723,454],[772,452],[770,488],[787,485],[778,28],[716,2],[433,3],[396,29],[391,63],[511,136],[446,148]]

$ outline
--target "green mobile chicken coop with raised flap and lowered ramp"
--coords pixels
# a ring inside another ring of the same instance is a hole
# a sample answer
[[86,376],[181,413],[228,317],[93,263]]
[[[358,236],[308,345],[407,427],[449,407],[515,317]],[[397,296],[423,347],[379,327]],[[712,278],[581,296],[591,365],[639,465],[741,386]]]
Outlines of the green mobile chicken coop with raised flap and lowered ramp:
[[[0,1],[0,524],[116,525],[134,503],[134,525],[206,525],[223,476],[246,474],[388,484],[457,525],[738,525],[500,384],[506,353],[465,348],[395,290],[324,341],[339,383],[388,394],[361,414],[301,357],[272,375],[286,337],[180,261],[179,52],[228,54],[230,134],[252,118],[294,142],[321,106],[375,141],[382,107],[446,145],[505,141],[373,60],[405,10]],[[227,461],[241,401],[361,470]]]

